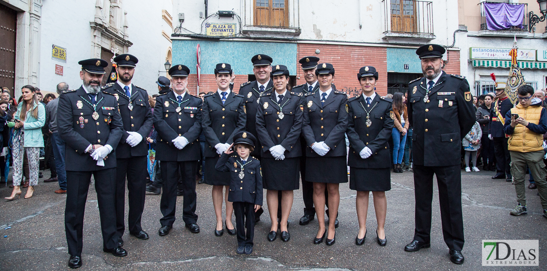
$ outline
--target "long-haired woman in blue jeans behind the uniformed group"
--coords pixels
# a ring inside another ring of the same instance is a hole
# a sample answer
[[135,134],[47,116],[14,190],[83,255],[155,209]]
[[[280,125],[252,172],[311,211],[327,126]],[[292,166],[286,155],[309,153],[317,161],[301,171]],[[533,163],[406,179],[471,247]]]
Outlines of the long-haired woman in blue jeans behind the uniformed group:
[[403,173],[401,163],[403,163],[403,155],[405,153],[406,132],[409,128],[408,113],[406,105],[403,103],[403,94],[395,93],[393,95],[393,124],[391,131],[393,137],[393,172]]

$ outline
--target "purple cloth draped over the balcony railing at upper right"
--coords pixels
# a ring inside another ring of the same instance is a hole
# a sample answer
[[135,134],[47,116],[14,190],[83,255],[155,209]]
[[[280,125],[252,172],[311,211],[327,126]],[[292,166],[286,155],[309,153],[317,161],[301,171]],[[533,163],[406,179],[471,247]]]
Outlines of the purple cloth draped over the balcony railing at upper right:
[[524,21],[522,4],[484,3],[484,15],[488,30],[504,30],[511,26],[522,28]]

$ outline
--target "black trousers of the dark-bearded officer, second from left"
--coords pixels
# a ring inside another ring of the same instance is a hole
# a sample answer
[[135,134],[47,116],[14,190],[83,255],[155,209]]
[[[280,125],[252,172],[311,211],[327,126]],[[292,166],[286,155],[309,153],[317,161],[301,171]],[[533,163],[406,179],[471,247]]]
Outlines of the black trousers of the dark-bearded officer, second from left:
[[120,237],[125,230],[125,179],[129,192],[129,215],[127,215],[127,229],[130,233],[139,233],[142,230],[141,218],[146,199],[147,157],[135,156],[116,160],[116,228]]

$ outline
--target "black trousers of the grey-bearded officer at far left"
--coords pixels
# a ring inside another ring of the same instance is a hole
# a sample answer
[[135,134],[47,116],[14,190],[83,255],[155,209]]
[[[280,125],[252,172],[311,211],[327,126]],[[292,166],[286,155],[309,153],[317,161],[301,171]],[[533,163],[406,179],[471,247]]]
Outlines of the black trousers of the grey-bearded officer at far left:
[[103,247],[114,249],[118,246],[116,232],[115,191],[116,169],[98,171],[67,171],[67,199],[65,207],[65,230],[67,235],[68,253],[72,256],[82,256],[82,235],[84,226],[85,203],[88,199],[91,175],[95,178],[95,191]]

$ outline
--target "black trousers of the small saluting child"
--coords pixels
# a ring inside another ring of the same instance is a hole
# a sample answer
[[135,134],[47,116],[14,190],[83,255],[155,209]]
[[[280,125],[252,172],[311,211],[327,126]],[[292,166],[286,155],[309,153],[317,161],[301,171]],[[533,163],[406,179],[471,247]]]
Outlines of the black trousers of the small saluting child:
[[[254,203],[236,201],[232,205],[236,215],[237,245],[253,246]],[[245,226],[247,226],[247,233],[245,233]]]

